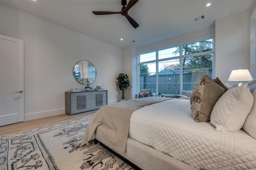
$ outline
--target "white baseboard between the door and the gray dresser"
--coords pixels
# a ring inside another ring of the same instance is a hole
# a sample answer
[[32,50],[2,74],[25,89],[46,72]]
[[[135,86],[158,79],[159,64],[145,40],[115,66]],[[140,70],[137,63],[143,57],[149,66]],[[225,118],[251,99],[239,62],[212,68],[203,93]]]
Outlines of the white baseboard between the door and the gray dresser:
[[29,121],[32,119],[39,119],[43,117],[49,117],[54,115],[60,115],[65,113],[65,108],[63,109],[55,109],[50,111],[43,111],[43,112],[36,112],[36,113],[29,113],[24,115],[24,121]]

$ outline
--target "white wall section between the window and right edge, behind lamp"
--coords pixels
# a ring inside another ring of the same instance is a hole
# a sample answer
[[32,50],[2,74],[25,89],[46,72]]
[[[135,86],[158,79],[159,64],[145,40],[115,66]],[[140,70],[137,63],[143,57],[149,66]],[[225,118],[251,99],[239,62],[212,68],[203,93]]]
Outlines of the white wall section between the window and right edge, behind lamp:
[[216,77],[228,81],[234,69],[250,70],[250,10],[238,12],[215,22]]

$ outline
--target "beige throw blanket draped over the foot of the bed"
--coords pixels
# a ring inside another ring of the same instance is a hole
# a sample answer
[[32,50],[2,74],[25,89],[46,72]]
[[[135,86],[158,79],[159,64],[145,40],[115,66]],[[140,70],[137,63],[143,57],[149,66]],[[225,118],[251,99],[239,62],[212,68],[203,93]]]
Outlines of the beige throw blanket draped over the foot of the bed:
[[97,130],[97,136],[103,138],[120,153],[124,154],[132,113],[143,106],[168,99],[172,98],[143,97],[101,107],[90,120],[84,133],[81,146],[94,139],[94,133],[98,127],[103,129],[104,132]]

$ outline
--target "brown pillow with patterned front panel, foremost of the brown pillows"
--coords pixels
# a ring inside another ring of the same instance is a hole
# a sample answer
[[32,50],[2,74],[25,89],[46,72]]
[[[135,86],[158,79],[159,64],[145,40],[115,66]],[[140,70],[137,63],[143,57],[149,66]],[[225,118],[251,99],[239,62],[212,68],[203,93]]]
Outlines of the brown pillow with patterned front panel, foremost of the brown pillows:
[[204,75],[192,90],[190,108],[194,121],[210,121],[212,108],[225,90],[214,82],[208,75]]

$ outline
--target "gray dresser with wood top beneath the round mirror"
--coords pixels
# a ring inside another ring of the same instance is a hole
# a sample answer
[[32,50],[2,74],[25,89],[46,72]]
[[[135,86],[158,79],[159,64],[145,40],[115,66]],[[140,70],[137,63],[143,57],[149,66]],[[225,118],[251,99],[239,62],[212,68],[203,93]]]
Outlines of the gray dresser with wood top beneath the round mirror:
[[65,112],[74,115],[87,111],[100,109],[108,104],[108,91],[66,91]]

